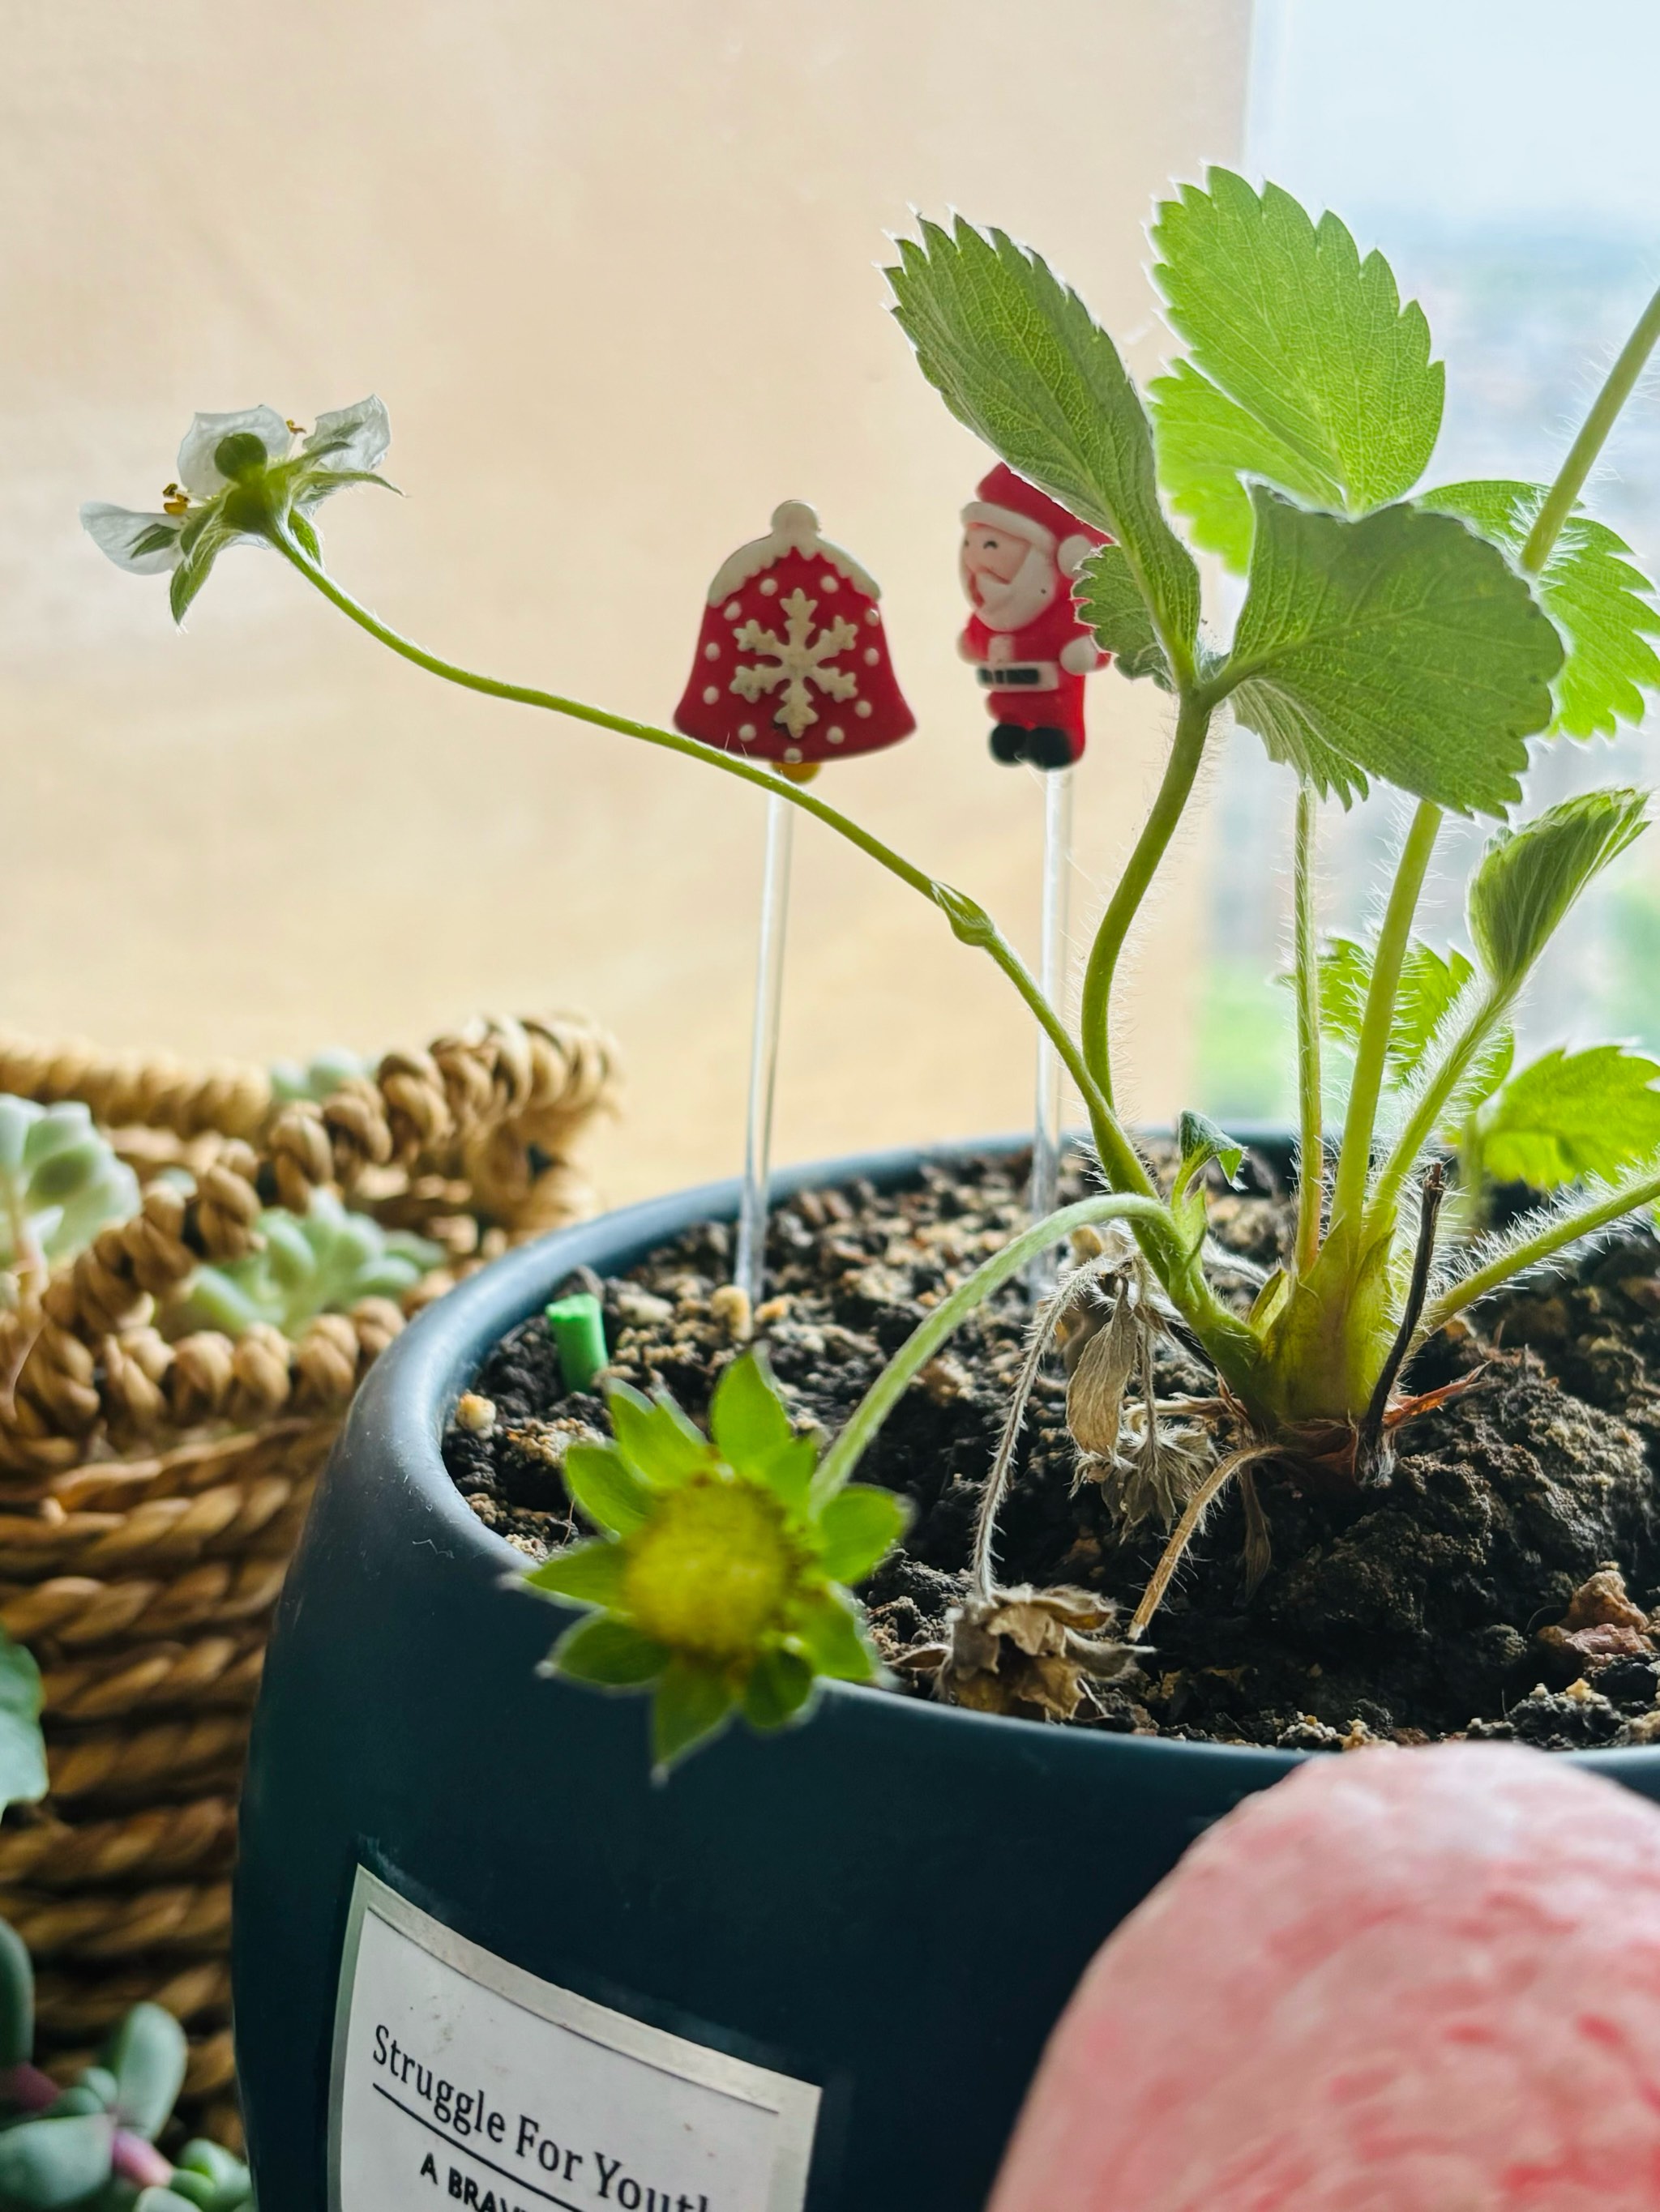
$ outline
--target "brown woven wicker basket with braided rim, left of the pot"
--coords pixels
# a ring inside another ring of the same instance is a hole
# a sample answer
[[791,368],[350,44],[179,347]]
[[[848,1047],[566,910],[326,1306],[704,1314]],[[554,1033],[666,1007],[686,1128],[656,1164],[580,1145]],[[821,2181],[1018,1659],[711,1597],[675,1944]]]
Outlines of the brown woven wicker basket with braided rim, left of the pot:
[[[230,1863],[272,1604],[363,1369],[409,1312],[496,1250],[591,1210],[571,1164],[609,1104],[580,1020],[480,1022],[374,1079],[279,1104],[261,1068],[46,1048],[0,1033],[0,1093],[84,1099],[142,1210],[104,1230],[24,1332],[0,1314],[0,1619],[46,1688],[51,1796],[0,1827],[0,1913],[38,1962],[44,2064],[71,2073],[139,1997],[190,2035],[181,2110],[237,2141]],[[177,1170],[188,1170],[179,1175]],[[164,1172],[168,1170],[168,1172]],[[168,1338],[201,1259],[319,1188],[447,1265],[299,1343]]]

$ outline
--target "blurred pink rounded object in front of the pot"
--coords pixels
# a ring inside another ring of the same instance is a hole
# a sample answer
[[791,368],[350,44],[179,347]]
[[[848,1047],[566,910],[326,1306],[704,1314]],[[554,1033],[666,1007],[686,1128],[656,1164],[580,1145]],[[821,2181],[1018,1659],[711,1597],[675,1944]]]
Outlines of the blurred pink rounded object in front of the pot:
[[1660,1809],[1310,1759],[1096,1955],[992,2212],[1660,2212]]

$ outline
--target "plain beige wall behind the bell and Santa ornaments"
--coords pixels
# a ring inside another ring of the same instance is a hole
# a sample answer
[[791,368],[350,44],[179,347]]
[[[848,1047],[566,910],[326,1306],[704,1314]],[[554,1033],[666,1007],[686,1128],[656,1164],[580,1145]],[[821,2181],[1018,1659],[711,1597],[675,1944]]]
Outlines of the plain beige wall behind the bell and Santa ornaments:
[[[378,389],[328,511],[378,611],[666,717],[715,562],[784,495],[885,586],[921,719],[823,776],[1025,945],[1040,794],[952,641],[983,456],[885,314],[912,206],[1029,237],[1158,358],[1142,221],[1239,142],[1248,0],[0,0],[0,1022],[111,1044],[418,1042],[474,1009],[620,1033],[609,1194],[741,1141],[761,801],[452,692],[239,553],[186,635],[82,498],[153,504],[195,407]],[[1080,907],[1162,710],[1093,688]],[[1182,1102],[1189,849],[1142,947],[1133,1102]],[[1014,1126],[1025,1015],[801,825],[779,1157]]]

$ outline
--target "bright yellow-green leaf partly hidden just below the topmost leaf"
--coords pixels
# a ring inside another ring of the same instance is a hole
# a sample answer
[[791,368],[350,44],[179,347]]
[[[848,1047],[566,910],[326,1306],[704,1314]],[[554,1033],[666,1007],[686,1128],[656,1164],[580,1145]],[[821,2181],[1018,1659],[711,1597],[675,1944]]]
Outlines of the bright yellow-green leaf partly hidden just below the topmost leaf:
[[1147,387],[1153,409],[1158,480],[1171,507],[1186,515],[1206,553],[1220,553],[1244,575],[1251,564],[1255,518],[1244,476],[1262,476],[1293,491],[1308,507],[1341,507],[1343,487],[1313,469],[1264,429],[1237,400],[1177,361],[1169,376]]

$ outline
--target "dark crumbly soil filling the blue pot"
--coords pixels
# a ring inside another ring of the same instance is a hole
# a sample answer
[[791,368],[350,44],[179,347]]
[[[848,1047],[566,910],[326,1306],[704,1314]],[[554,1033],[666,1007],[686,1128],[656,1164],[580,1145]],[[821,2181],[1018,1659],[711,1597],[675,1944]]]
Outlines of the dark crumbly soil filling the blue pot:
[[[1215,1194],[1213,1234],[1273,1265],[1293,1214],[1273,1194]],[[1082,1197],[1073,1177],[1065,1197]],[[925,1166],[903,1190],[812,1190],[772,1214],[755,1316],[797,1425],[841,1427],[930,1303],[1023,1230],[1025,1161]],[[706,1223],[604,1298],[611,1371],[704,1418],[735,1358],[730,1243]],[[573,1279],[569,1285],[580,1287]],[[1248,1287],[1242,1285],[1242,1298]],[[930,1697],[905,1661],[941,1639],[967,1588],[974,1511],[1025,1349],[1018,1285],[983,1307],[905,1394],[859,1480],[914,1500],[901,1553],[865,1584],[894,1694]],[[1372,1739],[1512,1736],[1547,1750],[1660,1741],[1660,1243],[1627,1230],[1578,1272],[1492,1301],[1479,1332],[1436,1338],[1410,1371],[1432,1389],[1485,1376],[1399,1431],[1392,1475],[1317,1486],[1266,1464],[1273,1564],[1246,1597],[1244,1511],[1231,1491],[1189,1551],[1140,1666],[1091,1683],[1069,1725],[1339,1750]],[[1206,1371],[1160,1347],[1160,1394]],[[1078,1482],[1058,1356],[1038,1378],[998,1522],[1005,1584],[1071,1584],[1135,1608],[1164,1531],[1120,1533]],[[578,1537],[560,1482],[573,1438],[609,1433],[598,1396],[567,1394],[540,1314],[485,1360],[445,1436],[474,1513],[531,1559]]]

